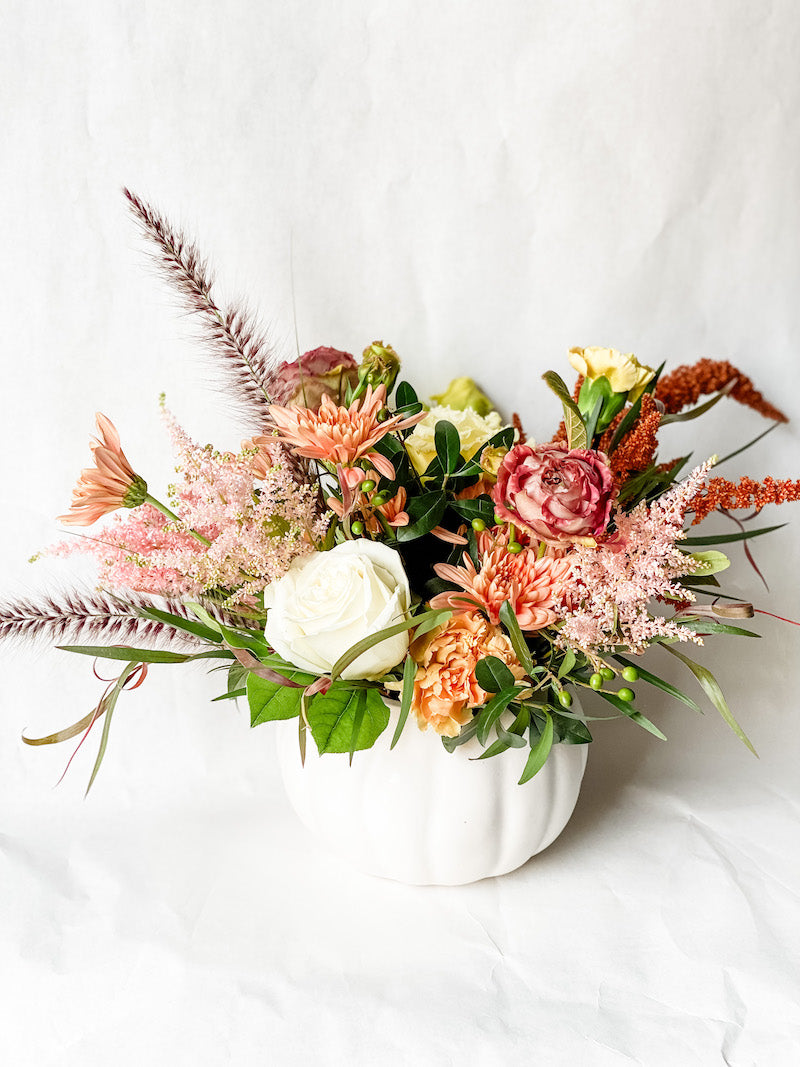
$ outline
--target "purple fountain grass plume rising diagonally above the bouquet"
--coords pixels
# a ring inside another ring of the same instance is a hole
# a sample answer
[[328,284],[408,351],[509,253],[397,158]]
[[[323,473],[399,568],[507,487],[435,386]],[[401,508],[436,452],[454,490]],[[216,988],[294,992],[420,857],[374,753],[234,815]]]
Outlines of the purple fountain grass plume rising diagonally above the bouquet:
[[160,212],[129,189],[123,190],[133,217],[156,245],[155,260],[177,289],[186,308],[203,321],[203,335],[227,369],[233,398],[258,430],[269,425],[269,384],[278,363],[255,316],[242,304],[220,307],[211,296],[213,276],[197,246]]

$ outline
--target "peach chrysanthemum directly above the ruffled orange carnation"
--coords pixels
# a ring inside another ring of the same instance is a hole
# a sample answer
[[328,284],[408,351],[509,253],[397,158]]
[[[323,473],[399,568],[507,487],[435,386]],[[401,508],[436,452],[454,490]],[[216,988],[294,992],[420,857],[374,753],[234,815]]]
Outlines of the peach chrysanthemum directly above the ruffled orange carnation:
[[436,574],[461,590],[439,593],[431,607],[455,611],[482,611],[490,622],[499,622],[501,605],[508,601],[519,628],[531,633],[556,621],[556,606],[562,600],[570,576],[570,560],[548,554],[538,558],[535,547],[509,552],[508,534],[486,530],[478,536],[480,569],[467,553],[464,566],[437,563]]

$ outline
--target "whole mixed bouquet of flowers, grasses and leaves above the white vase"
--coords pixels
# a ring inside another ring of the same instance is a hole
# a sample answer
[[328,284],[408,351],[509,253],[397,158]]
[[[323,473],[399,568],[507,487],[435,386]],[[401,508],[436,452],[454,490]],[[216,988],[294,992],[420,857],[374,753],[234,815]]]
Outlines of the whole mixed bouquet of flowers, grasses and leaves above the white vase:
[[177,459],[164,503],[97,416],[92,464],[61,521],[113,517],[49,552],[94,555],[99,590],[6,604],[0,637],[44,636],[122,671],[80,721],[29,744],[80,747],[100,723],[91,786],[122,691],[151,665],[208,659],[226,672],[218,699],[246,698],[253,726],[297,719],[303,755],[310,732],[321,754],[352,760],[394,710],[393,746],[410,717],[449,751],[473,737],[480,759],[528,746],[526,782],[553,745],[586,744],[608,717],[587,714],[585,694],[657,737],[634,684],[699,710],[640,665],[659,646],[752,748],[686,650],[755,636],[738,624],[753,606],[722,592],[719,546],[747,551],[775,527],[692,529],[713,512],[800,499],[800,481],[711,474],[742,449],[693,468],[657,452],[662,427],[726,396],[771,420],[765,433],[785,421],[745,375],[708,360],[665,373],[576,348],[574,388],[544,375],[553,425],[530,436],[466,378],[427,402],[382,341],[359,362],[333,348],[279,361],[252,316],[214,302],[196,248],[126,195],[252,435],[237,452],[199,446],[162,399]]

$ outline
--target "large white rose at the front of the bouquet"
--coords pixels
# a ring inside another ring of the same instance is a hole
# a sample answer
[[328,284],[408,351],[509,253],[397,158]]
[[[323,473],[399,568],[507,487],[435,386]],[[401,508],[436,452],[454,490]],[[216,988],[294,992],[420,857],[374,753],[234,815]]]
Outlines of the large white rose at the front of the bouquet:
[[[267,587],[265,636],[284,659],[327,674],[357,641],[402,622],[411,591],[400,556],[377,541],[346,541],[295,559]],[[407,632],[374,644],[347,667],[346,679],[381,678],[409,650]]]

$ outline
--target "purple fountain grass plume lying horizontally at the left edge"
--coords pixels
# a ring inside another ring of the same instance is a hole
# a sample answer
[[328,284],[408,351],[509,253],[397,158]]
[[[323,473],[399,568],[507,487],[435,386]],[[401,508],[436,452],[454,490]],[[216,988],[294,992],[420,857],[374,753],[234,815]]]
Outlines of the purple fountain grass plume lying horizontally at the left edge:
[[[239,627],[253,625],[250,620],[222,611],[206,601],[203,607],[223,623]],[[108,643],[180,644],[206,647],[206,642],[178,626],[161,620],[148,619],[153,609],[169,611],[182,619],[194,619],[180,601],[166,598],[148,598],[128,593],[125,599],[102,591],[82,592],[70,590],[60,595],[20,598],[0,604],[0,640],[44,639],[59,641],[91,641],[102,639]]]

